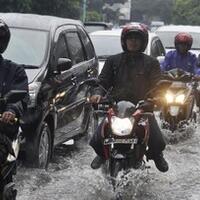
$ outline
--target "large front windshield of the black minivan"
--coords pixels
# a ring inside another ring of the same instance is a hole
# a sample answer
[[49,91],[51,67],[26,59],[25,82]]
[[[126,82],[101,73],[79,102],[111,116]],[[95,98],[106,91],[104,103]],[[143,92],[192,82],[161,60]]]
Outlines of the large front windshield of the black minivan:
[[10,28],[11,39],[3,56],[13,62],[41,66],[48,46],[48,32]]

